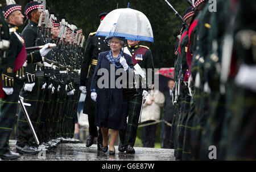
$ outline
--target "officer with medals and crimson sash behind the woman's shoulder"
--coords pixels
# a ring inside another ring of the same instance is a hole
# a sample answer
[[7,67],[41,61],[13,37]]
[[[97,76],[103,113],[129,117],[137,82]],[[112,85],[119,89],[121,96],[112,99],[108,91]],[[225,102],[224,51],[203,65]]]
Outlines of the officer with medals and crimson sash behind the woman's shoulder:
[[[147,78],[148,75],[151,75],[152,80],[151,83],[149,80],[146,80],[147,85],[145,88],[142,88],[142,85],[140,84],[138,89],[134,89],[129,95],[125,96],[124,101],[127,103],[128,108],[126,113],[128,123],[126,130],[119,131],[120,144],[118,151],[126,151],[126,153],[135,153],[133,147],[137,136],[143,96],[147,96],[148,89],[151,89],[152,84],[154,84],[154,62],[151,50],[147,46],[138,45],[138,43],[139,41],[127,40],[128,46],[125,47],[124,53],[131,55],[133,58],[133,65],[135,66],[138,64],[141,68],[145,69],[145,77]],[[141,83],[141,81],[139,81],[139,83]]]

